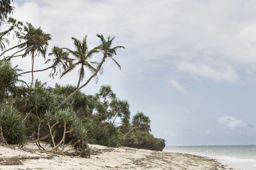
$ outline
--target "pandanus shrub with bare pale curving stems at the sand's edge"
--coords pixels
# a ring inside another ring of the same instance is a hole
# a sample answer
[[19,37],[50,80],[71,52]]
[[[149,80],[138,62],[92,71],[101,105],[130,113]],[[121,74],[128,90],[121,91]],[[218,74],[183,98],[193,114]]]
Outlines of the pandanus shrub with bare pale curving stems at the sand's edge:
[[[45,113],[44,123],[47,124],[49,138],[47,142],[53,147],[44,152],[61,152],[59,147],[71,146],[71,150],[82,157],[87,157],[88,145],[86,144],[86,129],[77,118],[76,113],[70,108],[57,111],[47,111]],[[68,155],[68,151],[61,152]]]

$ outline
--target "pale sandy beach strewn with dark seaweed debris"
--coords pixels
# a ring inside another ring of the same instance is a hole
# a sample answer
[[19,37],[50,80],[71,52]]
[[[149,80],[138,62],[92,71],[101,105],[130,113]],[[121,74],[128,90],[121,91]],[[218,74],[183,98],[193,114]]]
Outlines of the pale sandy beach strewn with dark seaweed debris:
[[40,153],[36,145],[0,146],[0,169],[230,169],[214,159],[184,153],[90,145],[90,158]]

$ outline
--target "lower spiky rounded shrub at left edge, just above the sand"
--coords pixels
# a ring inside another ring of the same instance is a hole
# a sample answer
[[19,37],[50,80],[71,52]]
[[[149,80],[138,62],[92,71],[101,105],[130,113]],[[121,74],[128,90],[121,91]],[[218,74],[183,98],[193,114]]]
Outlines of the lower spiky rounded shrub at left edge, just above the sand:
[[10,105],[3,106],[0,113],[0,126],[3,134],[1,137],[8,144],[17,144],[24,139],[22,117],[17,108]]

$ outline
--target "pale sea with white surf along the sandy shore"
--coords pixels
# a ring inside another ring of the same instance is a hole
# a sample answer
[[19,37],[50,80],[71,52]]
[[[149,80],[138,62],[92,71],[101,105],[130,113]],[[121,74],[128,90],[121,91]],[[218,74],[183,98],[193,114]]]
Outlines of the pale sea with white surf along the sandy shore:
[[163,151],[209,157],[225,166],[238,169],[256,169],[256,145],[166,146]]

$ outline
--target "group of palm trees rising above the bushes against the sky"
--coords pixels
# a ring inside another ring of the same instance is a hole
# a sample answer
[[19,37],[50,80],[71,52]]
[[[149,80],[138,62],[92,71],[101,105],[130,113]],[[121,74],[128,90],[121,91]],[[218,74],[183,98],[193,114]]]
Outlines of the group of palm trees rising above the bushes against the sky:
[[[79,78],[77,81],[76,91],[74,91],[70,96],[67,97],[59,106],[61,108],[63,104],[65,104],[71,97],[75,96],[77,92],[85,87],[93,77],[97,76],[100,69],[102,69],[102,64],[105,62],[107,58],[112,59],[115,64],[120,67],[120,64],[113,59],[113,55],[116,55],[116,50],[118,48],[124,48],[124,46],[115,46],[112,47],[113,40],[115,37],[107,39],[104,38],[102,34],[97,34],[97,37],[100,38],[100,45],[96,46],[92,50],[88,49],[87,45],[87,36],[84,36],[83,40],[72,38],[74,43],[74,50],[70,48],[60,48],[58,46],[54,46],[49,53],[52,55],[54,59],[47,59],[45,63],[51,62],[52,64],[45,69],[35,70],[34,63],[35,57],[46,57],[47,47],[49,45],[49,41],[51,40],[51,34],[47,34],[40,27],[34,27],[30,23],[26,23],[23,25],[22,22],[19,22],[13,18],[8,20],[8,24],[10,27],[0,33],[0,45],[2,52],[0,53],[0,57],[5,60],[12,60],[15,57],[31,57],[31,71],[25,71],[22,74],[31,73],[31,85],[34,82],[34,73],[40,71],[46,71],[47,69],[51,69],[50,77],[54,78],[58,73],[60,74],[60,78],[70,73],[70,71],[74,70],[76,67],[79,68]],[[18,44],[6,49],[6,45],[8,45],[8,40],[6,40],[5,36],[13,32],[13,34],[19,39]],[[93,54],[101,52],[103,54],[102,60],[100,62],[92,61]],[[72,57],[70,57],[72,55]],[[120,67],[121,69],[121,67]],[[86,70],[89,70],[92,75],[86,83],[81,85],[83,81]],[[62,72],[61,72],[62,71]],[[74,99],[75,99],[74,97]],[[74,104],[74,100],[72,102]]]

